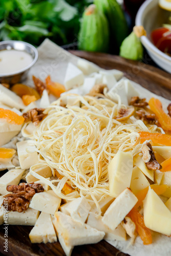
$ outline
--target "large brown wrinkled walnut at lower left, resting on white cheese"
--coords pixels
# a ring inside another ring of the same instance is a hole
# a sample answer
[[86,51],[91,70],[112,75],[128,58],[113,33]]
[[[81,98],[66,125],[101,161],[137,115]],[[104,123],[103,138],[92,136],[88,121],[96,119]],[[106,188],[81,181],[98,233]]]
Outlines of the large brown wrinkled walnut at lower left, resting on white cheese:
[[20,183],[19,185],[8,185],[7,191],[12,192],[12,194],[4,196],[8,198],[6,200],[8,202],[8,210],[22,212],[27,210],[30,200],[35,193],[43,192],[44,188],[41,184],[30,182]]

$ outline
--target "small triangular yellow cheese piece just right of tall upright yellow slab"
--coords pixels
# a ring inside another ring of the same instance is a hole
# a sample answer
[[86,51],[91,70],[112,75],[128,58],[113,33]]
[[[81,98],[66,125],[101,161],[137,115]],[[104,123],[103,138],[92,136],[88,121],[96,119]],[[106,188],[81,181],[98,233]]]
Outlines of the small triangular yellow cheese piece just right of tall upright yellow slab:
[[131,178],[130,188],[133,193],[136,195],[140,190],[144,189],[145,187],[149,186],[149,182],[146,179],[145,175],[141,172],[141,170],[135,166],[133,168],[133,174]]

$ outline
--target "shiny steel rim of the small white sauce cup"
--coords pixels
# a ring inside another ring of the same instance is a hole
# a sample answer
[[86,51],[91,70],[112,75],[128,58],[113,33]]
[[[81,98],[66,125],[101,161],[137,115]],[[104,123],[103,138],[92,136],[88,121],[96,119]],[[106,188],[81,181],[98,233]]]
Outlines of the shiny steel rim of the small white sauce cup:
[[33,61],[30,63],[30,65],[28,65],[26,68],[20,69],[20,70],[18,70],[17,72],[12,72],[12,73],[6,73],[6,74],[1,74],[1,73],[0,73],[0,77],[10,77],[10,76],[13,76],[13,75],[19,75],[19,74],[21,74],[21,73],[27,71],[28,69],[30,69],[30,68],[34,65],[34,63],[37,61],[37,59],[38,59],[38,51],[37,51],[37,49],[36,49],[33,45],[31,45],[31,44],[29,44],[28,42],[25,42],[25,41],[19,41],[19,40],[6,40],[6,41],[1,41],[1,42],[0,42],[0,48],[1,48],[1,46],[4,45],[4,44],[11,44],[12,42],[20,42],[20,43],[24,44],[25,46],[30,47],[30,48],[34,51],[34,54],[35,54],[34,59],[33,59]]

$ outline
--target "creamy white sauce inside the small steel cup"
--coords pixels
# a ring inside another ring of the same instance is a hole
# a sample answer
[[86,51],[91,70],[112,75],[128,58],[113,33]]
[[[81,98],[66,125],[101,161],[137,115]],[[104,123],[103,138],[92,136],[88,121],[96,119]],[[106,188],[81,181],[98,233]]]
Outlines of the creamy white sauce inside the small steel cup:
[[22,70],[33,61],[32,56],[24,51],[0,51],[0,74],[9,74]]

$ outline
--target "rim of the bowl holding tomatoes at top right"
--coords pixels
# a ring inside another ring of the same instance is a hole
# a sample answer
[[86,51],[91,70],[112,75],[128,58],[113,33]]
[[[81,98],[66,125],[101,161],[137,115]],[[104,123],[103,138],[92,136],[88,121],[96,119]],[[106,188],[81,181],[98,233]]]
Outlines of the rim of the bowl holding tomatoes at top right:
[[[142,22],[141,22],[141,18],[142,18],[142,14],[144,13],[144,10],[146,9],[146,7],[154,2],[155,0],[146,0],[140,7],[140,9],[137,12],[137,16],[135,19],[135,24],[136,26],[141,26]],[[162,51],[160,51],[154,44],[152,44],[152,42],[146,37],[146,36],[141,36],[141,42],[143,44],[143,46],[148,50],[151,51],[153,54],[157,55],[159,58],[164,59],[165,61],[167,61],[170,65],[170,61],[171,61],[171,57],[168,56],[167,54],[163,53]]]

